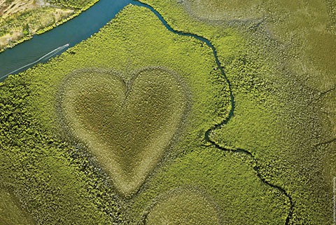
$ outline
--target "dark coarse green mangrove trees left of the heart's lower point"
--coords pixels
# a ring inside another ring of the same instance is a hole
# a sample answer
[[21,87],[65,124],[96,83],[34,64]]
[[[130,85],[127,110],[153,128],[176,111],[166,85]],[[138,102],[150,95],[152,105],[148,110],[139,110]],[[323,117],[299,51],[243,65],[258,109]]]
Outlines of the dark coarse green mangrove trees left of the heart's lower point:
[[[1,184],[38,224],[112,224],[116,196],[85,155],[41,130],[27,81],[1,83]],[[104,202],[104,204],[102,204]]]

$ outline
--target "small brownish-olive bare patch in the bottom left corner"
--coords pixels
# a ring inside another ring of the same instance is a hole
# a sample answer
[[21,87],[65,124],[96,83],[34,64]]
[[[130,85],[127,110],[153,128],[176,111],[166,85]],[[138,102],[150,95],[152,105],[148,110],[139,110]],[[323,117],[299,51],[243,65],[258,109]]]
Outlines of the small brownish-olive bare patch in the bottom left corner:
[[34,220],[31,219],[27,212],[24,212],[18,200],[13,198],[7,191],[0,189],[0,224],[3,225],[33,225]]

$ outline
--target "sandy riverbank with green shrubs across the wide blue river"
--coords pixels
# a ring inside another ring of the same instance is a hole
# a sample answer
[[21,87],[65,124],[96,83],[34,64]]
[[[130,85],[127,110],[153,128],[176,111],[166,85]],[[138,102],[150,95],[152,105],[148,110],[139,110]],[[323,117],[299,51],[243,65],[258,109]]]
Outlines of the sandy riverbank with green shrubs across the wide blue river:
[[42,34],[71,20],[99,0],[85,1],[83,5],[57,6],[49,1],[0,1],[0,53],[27,41],[34,34]]

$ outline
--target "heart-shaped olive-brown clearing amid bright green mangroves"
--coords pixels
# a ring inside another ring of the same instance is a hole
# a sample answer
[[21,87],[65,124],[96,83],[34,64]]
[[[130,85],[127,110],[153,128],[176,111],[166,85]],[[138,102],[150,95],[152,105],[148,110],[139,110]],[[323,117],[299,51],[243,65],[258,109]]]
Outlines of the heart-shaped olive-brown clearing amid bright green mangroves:
[[159,68],[144,69],[128,83],[113,71],[76,71],[60,96],[66,128],[124,196],[137,191],[164,156],[187,102],[179,78]]

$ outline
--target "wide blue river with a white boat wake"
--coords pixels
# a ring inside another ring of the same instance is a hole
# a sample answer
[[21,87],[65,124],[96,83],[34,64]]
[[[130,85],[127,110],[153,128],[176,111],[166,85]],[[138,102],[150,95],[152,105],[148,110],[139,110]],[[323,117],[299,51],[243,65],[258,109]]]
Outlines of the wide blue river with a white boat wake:
[[0,81],[9,74],[18,74],[38,62],[46,62],[66,48],[89,38],[131,3],[139,5],[138,1],[132,0],[100,0],[63,25],[5,50],[0,53]]

